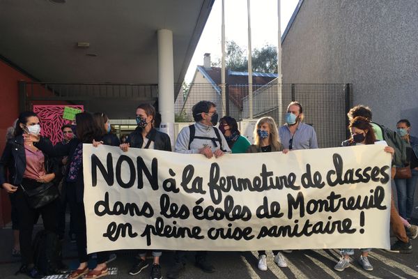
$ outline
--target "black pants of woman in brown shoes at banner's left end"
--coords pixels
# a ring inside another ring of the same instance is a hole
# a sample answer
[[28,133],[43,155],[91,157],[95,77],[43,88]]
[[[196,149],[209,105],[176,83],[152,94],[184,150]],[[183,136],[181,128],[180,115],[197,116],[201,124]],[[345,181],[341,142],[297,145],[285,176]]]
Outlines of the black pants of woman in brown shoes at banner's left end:
[[[70,199],[70,210],[74,218],[75,240],[77,242],[77,253],[79,262],[87,262],[87,229],[86,213],[84,212],[84,203],[75,202]],[[108,252],[98,252],[98,264],[102,264],[109,259]]]

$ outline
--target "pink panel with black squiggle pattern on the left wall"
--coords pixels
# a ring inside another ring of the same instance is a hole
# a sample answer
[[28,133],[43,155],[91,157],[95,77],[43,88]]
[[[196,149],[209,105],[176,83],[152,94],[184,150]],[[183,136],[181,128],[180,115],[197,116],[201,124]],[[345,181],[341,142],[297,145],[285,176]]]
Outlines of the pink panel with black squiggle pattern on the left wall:
[[33,112],[38,114],[42,137],[49,137],[53,144],[61,142],[63,133],[61,127],[70,124],[70,120],[63,119],[64,107],[72,107],[84,111],[83,105],[33,105]]

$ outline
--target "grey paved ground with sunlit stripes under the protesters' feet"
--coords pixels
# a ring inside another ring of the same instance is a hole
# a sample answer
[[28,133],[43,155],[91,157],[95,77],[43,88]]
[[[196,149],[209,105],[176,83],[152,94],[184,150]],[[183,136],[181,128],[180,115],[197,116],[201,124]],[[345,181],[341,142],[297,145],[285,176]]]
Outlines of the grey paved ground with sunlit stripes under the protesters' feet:
[[[416,199],[418,201],[418,191]],[[418,209],[415,209],[412,223],[418,223]],[[42,226],[37,225],[36,230]],[[20,259],[10,255],[12,250],[12,231],[9,228],[0,229],[0,278],[28,278],[23,275],[15,276],[14,273],[20,267]],[[395,239],[392,239],[395,241]],[[334,271],[333,267],[338,262],[337,250],[295,250],[291,254],[285,254],[288,268],[280,269],[272,261],[272,254],[268,256],[268,271],[258,271],[256,253],[253,252],[210,252],[209,259],[215,265],[216,273],[203,273],[196,269],[193,262],[193,255],[189,255],[187,269],[181,278],[418,278],[418,239],[412,240],[414,251],[412,254],[402,255],[384,250],[373,250],[369,255],[374,271],[363,271],[357,263],[359,251],[355,253],[355,261],[352,266],[342,273]],[[75,243],[68,240],[64,243],[65,264],[70,268],[77,266],[77,252]],[[137,276],[129,276],[127,271],[134,264],[134,251],[121,251],[117,253],[117,259],[109,264],[111,276],[109,279],[117,278],[149,278],[149,271],[142,271]],[[165,274],[173,260],[173,252],[165,252],[162,256],[162,271]],[[49,276],[48,279],[61,279],[65,275]]]

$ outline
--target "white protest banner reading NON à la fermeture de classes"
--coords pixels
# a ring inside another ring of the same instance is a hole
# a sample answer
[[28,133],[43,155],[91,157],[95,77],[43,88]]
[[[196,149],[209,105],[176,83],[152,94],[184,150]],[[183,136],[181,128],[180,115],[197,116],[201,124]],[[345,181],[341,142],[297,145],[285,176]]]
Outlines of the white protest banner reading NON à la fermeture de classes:
[[208,159],[84,144],[88,252],[389,248],[383,149]]

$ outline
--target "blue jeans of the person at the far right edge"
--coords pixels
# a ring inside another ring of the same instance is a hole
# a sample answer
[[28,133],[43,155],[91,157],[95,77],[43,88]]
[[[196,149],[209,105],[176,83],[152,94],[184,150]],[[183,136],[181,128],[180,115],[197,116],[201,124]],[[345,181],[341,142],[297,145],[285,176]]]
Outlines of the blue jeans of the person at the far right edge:
[[410,179],[395,179],[396,192],[398,192],[399,215],[410,219],[414,209],[414,194],[418,181],[418,170],[411,169]]

